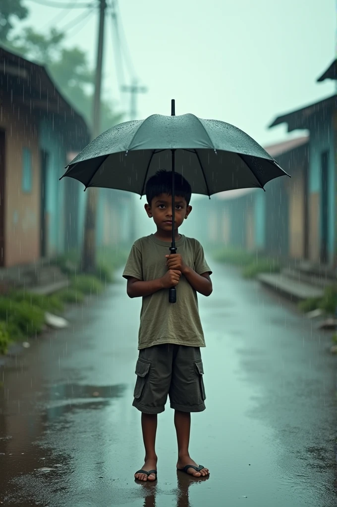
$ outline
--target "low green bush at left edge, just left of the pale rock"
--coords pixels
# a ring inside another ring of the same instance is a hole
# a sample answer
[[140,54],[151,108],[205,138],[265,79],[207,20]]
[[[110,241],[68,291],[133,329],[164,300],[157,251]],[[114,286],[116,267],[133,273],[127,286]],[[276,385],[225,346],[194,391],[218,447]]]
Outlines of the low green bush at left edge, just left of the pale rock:
[[22,335],[32,336],[41,333],[45,322],[45,312],[26,301],[17,302],[1,297],[0,320],[5,320],[10,324],[12,330],[17,327]]

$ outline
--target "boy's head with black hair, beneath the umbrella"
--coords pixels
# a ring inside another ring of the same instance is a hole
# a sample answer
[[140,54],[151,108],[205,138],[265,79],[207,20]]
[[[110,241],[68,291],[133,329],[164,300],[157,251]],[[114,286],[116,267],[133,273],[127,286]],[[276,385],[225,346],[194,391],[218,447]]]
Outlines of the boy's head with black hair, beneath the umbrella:
[[[172,172],[160,170],[148,179],[145,188],[147,204],[145,209],[153,218],[157,228],[172,230]],[[175,173],[175,229],[192,211],[191,186],[181,174]],[[170,223],[171,220],[171,223]]]

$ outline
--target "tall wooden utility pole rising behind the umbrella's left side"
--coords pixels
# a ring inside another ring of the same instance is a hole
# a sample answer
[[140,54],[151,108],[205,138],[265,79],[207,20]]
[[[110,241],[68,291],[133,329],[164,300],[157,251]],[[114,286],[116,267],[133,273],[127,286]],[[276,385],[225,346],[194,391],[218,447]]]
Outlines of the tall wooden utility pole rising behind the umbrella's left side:
[[[97,63],[95,91],[92,104],[92,139],[97,137],[100,132],[100,90],[102,88],[104,18],[106,7],[106,0],[99,0]],[[82,252],[82,269],[87,273],[93,272],[96,264],[96,210],[98,189],[93,187],[89,188],[88,193]]]

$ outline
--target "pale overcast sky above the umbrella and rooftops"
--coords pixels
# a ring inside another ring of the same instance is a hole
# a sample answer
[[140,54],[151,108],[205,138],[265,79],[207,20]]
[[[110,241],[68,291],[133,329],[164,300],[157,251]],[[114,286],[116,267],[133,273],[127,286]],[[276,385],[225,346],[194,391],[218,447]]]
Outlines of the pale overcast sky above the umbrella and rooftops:
[[[84,12],[25,5],[31,13],[25,24],[42,31]],[[267,129],[276,116],[334,92],[332,82],[316,83],[335,57],[334,0],[119,0],[119,11],[134,67],[148,87],[138,97],[139,119],[170,115],[175,98],[177,115],[232,123],[265,146],[289,135],[283,126]],[[87,20],[69,32],[66,45],[86,50],[93,64],[97,13]],[[106,28],[104,90],[119,105],[110,16]]]

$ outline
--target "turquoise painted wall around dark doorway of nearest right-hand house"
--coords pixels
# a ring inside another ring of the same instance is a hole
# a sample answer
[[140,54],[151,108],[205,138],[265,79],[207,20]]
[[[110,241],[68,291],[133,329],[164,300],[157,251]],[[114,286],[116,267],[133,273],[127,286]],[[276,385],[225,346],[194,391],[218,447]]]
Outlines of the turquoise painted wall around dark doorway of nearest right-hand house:
[[[328,115],[328,117],[327,117]],[[335,255],[335,234],[334,234],[334,216],[335,216],[335,162],[334,162],[334,141],[332,114],[330,112],[315,115],[314,123],[310,128],[309,143],[309,192],[321,192],[321,154],[324,151],[329,152],[328,162],[328,256],[329,262],[333,262]],[[319,239],[321,237],[321,222],[319,223]]]

